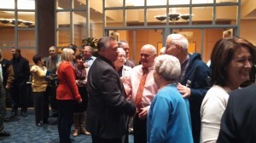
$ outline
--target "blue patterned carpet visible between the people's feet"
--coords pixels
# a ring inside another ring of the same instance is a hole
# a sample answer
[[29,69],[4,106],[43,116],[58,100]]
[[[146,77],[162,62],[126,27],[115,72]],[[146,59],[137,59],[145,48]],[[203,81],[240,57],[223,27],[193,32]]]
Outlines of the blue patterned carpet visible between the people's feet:
[[[49,117],[49,122],[55,120],[56,117]],[[9,131],[11,136],[0,137],[1,143],[59,143],[57,125],[43,124],[43,127],[36,126],[33,108],[28,109],[27,117],[22,117],[19,111],[18,115],[12,118],[10,122],[4,123],[4,130]],[[80,134],[73,137],[71,132],[70,136],[74,143],[91,143],[90,135]],[[129,142],[133,142],[132,135],[129,135]]]

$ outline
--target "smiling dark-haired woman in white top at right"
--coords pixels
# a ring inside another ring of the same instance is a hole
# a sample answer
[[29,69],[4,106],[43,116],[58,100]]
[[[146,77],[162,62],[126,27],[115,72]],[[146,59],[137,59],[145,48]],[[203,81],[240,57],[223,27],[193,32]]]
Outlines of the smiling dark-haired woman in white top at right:
[[247,40],[232,37],[218,40],[212,49],[212,88],[201,104],[201,141],[216,142],[220,120],[229,93],[249,79],[255,60],[254,46]]

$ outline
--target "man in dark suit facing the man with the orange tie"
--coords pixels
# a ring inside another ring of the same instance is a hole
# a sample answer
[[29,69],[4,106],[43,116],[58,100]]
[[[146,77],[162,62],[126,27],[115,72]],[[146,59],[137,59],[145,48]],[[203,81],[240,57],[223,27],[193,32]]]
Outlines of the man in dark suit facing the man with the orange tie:
[[128,116],[136,112],[135,105],[125,99],[123,83],[114,70],[118,47],[113,37],[99,39],[99,56],[90,66],[86,129],[91,133],[93,143],[122,143]]

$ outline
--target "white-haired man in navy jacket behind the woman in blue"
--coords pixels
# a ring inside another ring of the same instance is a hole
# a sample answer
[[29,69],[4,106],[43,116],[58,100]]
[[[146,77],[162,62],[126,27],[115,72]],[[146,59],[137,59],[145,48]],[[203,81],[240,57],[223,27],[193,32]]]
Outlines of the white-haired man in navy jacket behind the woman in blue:
[[210,89],[211,70],[201,60],[201,54],[189,54],[188,47],[189,42],[182,34],[171,34],[166,38],[166,54],[176,56],[181,64],[177,90],[183,98],[189,98],[193,140],[199,143],[201,102]]

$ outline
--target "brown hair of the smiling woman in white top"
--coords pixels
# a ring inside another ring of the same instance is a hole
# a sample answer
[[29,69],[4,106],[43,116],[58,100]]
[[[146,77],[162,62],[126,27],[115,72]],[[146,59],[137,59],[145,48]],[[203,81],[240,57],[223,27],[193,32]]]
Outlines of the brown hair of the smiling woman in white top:
[[212,84],[226,85],[228,72],[227,66],[238,49],[246,47],[255,60],[255,47],[252,43],[240,37],[230,37],[218,40],[211,54]]

